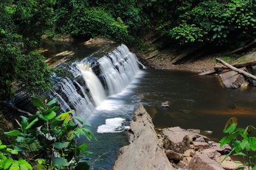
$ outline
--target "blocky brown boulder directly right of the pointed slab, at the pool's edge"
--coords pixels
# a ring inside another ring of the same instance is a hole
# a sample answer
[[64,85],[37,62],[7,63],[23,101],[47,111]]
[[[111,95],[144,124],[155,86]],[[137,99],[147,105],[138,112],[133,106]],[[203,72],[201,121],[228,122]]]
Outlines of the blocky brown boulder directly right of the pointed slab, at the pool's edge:
[[166,150],[184,153],[186,150],[190,149],[188,134],[189,132],[180,127],[172,127],[164,130],[164,148]]

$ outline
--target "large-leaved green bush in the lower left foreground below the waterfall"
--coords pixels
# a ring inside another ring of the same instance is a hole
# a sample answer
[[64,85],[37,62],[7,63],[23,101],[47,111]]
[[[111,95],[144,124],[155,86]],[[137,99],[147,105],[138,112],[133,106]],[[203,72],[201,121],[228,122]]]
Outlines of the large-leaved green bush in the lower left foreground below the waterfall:
[[[38,169],[76,169],[81,166],[83,169],[89,169],[88,164],[81,161],[86,160],[84,155],[92,153],[85,152],[88,148],[86,143],[77,145],[76,138],[79,135],[83,135],[89,140],[95,137],[89,129],[79,127],[72,120],[81,124],[90,124],[81,117],[72,117],[72,111],[57,116],[56,111],[60,107],[52,106],[56,105],[57,99],[44,103],[37,97],[31,97],[31,101],[38,108],[36,114],[21,117],[22,122],[20,122],[18,130],[4,132],[8,136],[15,136],[17,142],[13,144],[15,151],[35,155],[33,160],[29,161],[37,161]],[[12,164],[15,161],[12,160]],[[22,161],[24,162],[24,160]]]

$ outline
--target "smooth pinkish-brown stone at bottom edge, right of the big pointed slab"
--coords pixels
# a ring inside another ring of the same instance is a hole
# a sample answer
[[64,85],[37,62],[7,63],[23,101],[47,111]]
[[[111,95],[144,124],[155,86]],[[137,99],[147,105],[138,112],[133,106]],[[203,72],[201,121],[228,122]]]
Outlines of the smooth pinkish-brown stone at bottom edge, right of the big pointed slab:
[[217,162],[204,154],[195,155],[188,164],[189,170],[224,170]]

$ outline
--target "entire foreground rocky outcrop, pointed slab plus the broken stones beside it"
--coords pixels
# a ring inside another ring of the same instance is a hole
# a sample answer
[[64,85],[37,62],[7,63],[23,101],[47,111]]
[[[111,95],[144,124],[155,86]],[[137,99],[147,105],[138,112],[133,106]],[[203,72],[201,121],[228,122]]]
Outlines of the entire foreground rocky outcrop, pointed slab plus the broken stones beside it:
[[125,170],[224,170],[236,169],[237,164],[230,157],[225,158],[231,148],[210,141],[198,129],[172,127],[157,129],[140,104],[134,111],[131,122],[130,145],[120,149],[120,155],[113,169]]

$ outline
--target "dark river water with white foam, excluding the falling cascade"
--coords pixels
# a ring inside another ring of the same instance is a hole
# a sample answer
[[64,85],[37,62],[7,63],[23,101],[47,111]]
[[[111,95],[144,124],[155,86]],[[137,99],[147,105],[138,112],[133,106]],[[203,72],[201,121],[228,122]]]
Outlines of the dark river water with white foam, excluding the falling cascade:
[[[63,49],[60,43],[59,48],[54,43],[47,43],[53,50],[46,56],[72,50],[75,51],[73,55],[81,59],[100,49],[85,50],[81,46],[77,48],[77,44],[65,44],[68,45]],[[169,101],[170,107],[161,108],[164,101]],[[92,169],[113,167],[118,149],[128,144],[125,129],[138,103],[145,106],[156,128],[179,126],[213,131],[209,137],[216,141],[225,135],[221,131],[230,117],[237,117],[240,127],[255,125],[256,88],[227,90],[216,76],[196,76],[187,71],[140,70],[121,92],[107,95],[86,116],[98,141],[79,138],[79,143],[88,143],[88,151],[93,152],[88,156]]]

